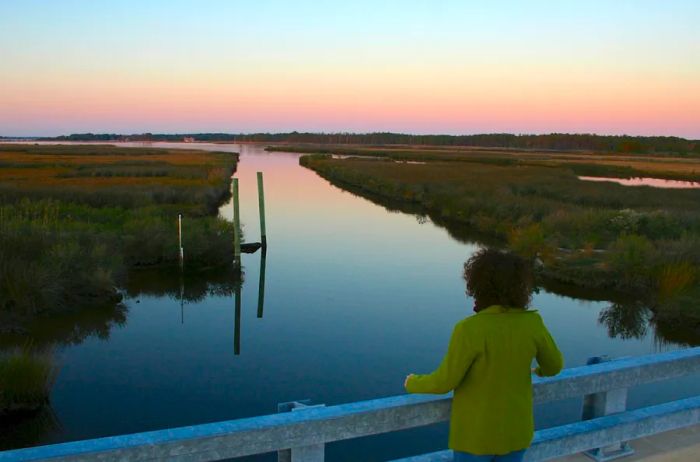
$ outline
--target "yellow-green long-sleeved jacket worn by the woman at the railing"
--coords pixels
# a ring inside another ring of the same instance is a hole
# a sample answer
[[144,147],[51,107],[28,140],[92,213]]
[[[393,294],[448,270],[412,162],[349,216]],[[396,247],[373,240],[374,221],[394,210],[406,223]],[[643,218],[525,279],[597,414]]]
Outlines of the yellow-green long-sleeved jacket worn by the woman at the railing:
[[440,367],[412,376],[406,390],[455,391],[451,449],[507,454],[532,442],[534,358],[540,376],[556,375],[563,367],[561,352],[537,311],[491,306],[458,322]]

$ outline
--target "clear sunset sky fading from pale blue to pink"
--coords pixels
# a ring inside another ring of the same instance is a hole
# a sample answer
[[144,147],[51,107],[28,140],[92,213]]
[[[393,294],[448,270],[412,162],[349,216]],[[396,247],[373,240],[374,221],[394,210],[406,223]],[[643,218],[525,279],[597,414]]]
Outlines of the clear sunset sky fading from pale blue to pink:
[[700,1],[0,0],[0,135],[700,138]]

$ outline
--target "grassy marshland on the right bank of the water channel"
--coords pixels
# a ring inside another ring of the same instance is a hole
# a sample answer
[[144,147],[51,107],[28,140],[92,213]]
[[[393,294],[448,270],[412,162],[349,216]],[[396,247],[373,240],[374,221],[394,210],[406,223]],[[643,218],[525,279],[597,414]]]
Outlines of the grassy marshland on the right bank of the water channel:
[[[445,160],[454,154],[389,151],[379,160],[312,155],[300,162],[377,202],[418,207],[438,223],[467,227],[538,257],[546,279],[643,295],[667,324],[690,323],[700,331],[700,190],[582,181],[578,157],[540,154],[533,161],[530,153],[508,153]],[[667,173],[691,178],[696,165],[668,158],[629,164],[591,165],[610,176],[618,168],[662,173],[672,165]]]

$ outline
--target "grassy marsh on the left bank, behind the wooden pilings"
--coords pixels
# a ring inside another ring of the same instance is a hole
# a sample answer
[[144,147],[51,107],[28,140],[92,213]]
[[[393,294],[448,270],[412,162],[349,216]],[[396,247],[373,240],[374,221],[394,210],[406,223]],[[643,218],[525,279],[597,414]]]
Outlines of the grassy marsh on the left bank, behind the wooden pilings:
[[231,261],[216,216],[236,156],[106,145],[0,145],[0,316],[113,304],[128,269]]

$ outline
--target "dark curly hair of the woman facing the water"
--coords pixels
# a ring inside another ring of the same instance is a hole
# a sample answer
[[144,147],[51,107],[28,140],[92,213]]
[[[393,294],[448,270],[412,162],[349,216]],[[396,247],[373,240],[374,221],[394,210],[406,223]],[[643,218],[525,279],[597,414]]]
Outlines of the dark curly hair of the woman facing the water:
[[467,294],[474,311],[492,305],[525,308],[533,286],[532,264],[513,253],[481,249],[464,264]]

